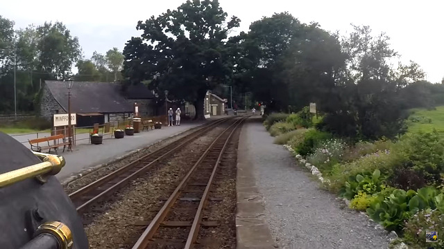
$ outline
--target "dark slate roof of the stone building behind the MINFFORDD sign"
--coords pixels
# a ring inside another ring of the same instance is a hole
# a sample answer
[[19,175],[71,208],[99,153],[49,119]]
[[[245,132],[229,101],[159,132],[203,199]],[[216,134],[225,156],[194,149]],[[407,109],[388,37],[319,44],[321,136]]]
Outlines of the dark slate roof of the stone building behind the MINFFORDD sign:
[[[68,110],[68,89],[65,82],[46,80],[51,94]],[[121,94],[120,85],[108,82],[74,82],[71,89],[73,113],[131,113],[133,104]]]

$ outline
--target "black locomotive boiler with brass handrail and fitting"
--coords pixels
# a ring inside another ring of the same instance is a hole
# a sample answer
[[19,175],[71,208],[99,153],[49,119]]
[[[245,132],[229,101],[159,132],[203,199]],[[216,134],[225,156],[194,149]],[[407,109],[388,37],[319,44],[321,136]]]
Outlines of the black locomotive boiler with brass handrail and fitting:
[[87,249],[76,208],[56,174],[62,156],[33,152],[0,132],[0,248]]

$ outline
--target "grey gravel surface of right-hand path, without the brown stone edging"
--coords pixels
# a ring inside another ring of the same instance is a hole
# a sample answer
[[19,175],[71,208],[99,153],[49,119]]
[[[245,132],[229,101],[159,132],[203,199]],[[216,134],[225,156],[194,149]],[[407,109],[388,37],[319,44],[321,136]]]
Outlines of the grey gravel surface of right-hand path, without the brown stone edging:
[[321,190],[289,151],[273,144],[260,122],[246,124],[244,132],[257,186],[266,201],[266,219],[280,248],[387,248],[384,230]]

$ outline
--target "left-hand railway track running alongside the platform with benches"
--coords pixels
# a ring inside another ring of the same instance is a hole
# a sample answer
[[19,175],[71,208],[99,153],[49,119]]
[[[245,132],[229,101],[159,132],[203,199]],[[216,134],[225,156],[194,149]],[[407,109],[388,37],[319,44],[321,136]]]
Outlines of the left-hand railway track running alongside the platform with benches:
[[231,120],[232,118],[221,118],[209,124],[205,124],[193,133],[172,142],[156,151],[147,154],[137,160],[128,163],[127,165],[117,169],[116,171],[99,178],[86,185],[85,187],[76,190],[69,194],[69,198],[76,206],[78,213],[83,213],[90,205],[102,201],[106,196],[110,196],[117,190],[120,190],[124,185],[133,181],[135,178],[146,172],[155,163],[159,163],[160,160],[168,158],[169,155],[181,149],[183,146],[189,144],[192,140],[202,136],[207,131],[218,126],[219,124]]

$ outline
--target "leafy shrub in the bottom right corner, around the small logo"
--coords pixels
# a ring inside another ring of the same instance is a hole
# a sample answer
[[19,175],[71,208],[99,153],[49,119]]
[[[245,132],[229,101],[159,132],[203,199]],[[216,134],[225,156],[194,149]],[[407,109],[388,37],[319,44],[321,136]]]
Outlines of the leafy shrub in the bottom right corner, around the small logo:
[[439,210],[427,208],[414,214],[404,227],[404,242],[412,248],[427,248],[429,243],[425,241],[426,230],[438,232],[438,242],[433,246],[444,248],[444,214]]

